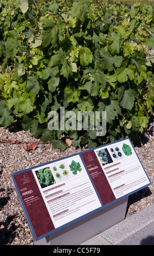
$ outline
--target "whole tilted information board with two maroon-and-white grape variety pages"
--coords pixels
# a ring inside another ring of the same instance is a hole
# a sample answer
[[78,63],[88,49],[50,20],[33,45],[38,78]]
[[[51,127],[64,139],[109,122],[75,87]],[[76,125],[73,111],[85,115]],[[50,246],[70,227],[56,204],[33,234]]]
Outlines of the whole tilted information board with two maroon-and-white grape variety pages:
[[151,184],[129,138],[11,179],[35,241]]

